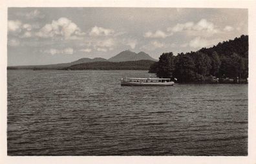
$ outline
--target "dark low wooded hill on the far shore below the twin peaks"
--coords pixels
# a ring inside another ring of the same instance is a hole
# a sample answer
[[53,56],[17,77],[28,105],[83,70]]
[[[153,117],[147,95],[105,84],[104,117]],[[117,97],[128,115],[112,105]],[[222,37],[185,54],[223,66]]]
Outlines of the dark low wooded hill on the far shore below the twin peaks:
[[71,70],[148,70],[151,64],[155,63],[153,60],[137,60],[127,62],[87,62],[76,64],[65,69]]

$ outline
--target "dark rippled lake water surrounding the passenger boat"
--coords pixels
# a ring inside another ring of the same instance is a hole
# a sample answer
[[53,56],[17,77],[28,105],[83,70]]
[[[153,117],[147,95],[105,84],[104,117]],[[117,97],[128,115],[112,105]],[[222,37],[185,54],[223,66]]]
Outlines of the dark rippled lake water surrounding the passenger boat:
[[9,156],[246,156],[247,84],[120,86],[147,71],[8,70]]

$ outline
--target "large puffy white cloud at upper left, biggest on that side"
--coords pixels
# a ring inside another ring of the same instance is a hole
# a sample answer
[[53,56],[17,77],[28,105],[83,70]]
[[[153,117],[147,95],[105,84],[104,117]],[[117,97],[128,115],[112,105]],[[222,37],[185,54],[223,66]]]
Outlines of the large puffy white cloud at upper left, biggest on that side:
[[37,37],[56,37],[61,36],[64,39],[74,39],[76,36],[79,37],[85,35],[85,33],[81,32],[80,28],[73,23],[70,19],[65,17],[61,17],[58,21],[52,21],[51,24],[45,24],[39,32],[36,33]]

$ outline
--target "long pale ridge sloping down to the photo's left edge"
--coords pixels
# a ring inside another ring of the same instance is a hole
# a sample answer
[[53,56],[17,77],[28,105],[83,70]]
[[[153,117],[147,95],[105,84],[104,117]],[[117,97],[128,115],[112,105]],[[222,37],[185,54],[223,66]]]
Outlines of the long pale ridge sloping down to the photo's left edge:
[[61,64],[48,64],[48,65],[38,65],[38,66],[9,66],[7,69],[63,69],[75,64],[81,64],[85,62],[104,62],[107,59],[100,57],[90,59],[90,58],[81,58],[74,62],[61,63]]

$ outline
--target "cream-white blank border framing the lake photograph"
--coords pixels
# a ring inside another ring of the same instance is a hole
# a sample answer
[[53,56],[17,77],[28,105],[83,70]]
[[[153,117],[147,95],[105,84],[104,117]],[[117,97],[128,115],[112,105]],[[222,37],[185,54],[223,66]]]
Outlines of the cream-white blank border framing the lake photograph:
[[[8,7],[179,7],[179,8],[248,8],[249,17],[249,85],[248,85],[248,156],[7,156],[6,107],[7,107],[7,8]],[[256,1],[232,0],[2,0],[0,2],[0,163],[256,163]]]

